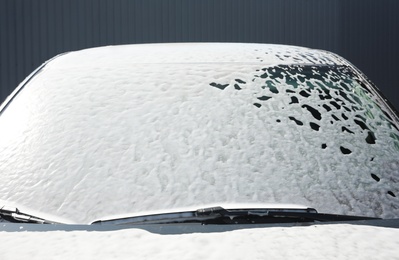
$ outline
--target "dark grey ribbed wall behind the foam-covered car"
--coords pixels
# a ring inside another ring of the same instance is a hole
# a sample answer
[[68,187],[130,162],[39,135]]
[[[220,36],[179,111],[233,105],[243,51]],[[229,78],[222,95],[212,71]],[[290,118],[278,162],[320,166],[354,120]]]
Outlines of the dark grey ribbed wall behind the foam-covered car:
[[397,0],[0,0],[0,102],[56,54],[152,42],[259,42],[350,60],[399,108]]

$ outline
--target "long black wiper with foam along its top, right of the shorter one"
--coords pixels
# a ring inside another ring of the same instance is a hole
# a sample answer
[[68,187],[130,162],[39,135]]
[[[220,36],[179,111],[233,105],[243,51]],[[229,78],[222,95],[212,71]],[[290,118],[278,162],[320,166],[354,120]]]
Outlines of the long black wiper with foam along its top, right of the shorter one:
[[336,222],[353,220],[379,219],[363,216],[349,216],[337,214],[318,213],[313,208],[305,209],[224,209],[211,207],[196,211],[173,212],[97,220],[91,224],[114,225],[142,225],[142,224],[174,224],[174,223],[199,223],[208,224],[275,224],[298,222]]

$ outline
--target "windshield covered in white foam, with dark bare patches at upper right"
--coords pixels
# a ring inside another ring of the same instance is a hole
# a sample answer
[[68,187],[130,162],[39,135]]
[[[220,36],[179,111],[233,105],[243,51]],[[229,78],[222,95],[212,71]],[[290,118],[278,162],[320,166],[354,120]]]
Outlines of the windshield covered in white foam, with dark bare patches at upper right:
[[2,200],[79,223],[223,203],[399,216],[395,119],[347,67],[68,57],[0,116]]

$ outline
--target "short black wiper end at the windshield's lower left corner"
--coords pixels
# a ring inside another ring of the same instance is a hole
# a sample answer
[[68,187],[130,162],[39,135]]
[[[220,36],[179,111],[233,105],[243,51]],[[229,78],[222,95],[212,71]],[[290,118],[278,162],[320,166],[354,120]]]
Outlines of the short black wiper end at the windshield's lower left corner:
[[44,218],[39,218],[27,213],[19,211],[17,208],[8,208],[3,206],[0,208],[0,222],[11,223],[34,223],[34,224],[60,224]]

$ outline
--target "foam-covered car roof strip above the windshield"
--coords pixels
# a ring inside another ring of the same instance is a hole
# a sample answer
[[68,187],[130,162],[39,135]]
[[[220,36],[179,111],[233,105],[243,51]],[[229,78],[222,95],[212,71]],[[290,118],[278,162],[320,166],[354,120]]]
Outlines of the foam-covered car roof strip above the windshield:
[[[101,54],[101,55],[99,55]],[[246,63],[246,64],[341,64],[337,55],[305,47],[256,43],[156,43],[118,45],[67,53],[52,63],[76,62],[90,66],[104,60],[117,64]]]

